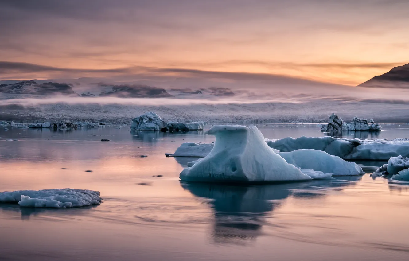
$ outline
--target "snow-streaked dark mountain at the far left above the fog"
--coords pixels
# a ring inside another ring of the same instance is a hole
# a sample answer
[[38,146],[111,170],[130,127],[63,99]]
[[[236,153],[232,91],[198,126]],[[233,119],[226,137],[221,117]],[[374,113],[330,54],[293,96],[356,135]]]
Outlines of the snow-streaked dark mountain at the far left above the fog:
[[75,95],[72,85],[67,83],[37,83],[34,80],[19,81],[16,83],[4,83],[0,85],[0,92],[9,94],[37,94],[37,95]]

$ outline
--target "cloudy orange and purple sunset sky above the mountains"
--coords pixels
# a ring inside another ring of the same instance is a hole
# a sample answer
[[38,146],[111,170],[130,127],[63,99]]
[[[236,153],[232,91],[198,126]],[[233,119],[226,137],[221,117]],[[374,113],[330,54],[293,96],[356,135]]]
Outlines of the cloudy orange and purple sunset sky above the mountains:
[[407,0],[2,0],[0,24],[3,80],[233,74],[357,85],[409,63]]

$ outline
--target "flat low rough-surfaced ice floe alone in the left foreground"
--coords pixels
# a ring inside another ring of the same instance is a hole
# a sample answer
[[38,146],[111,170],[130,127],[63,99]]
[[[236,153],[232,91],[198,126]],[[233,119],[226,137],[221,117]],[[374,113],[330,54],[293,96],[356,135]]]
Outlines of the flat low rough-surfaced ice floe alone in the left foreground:
[[16,202],[21,207],[83,207],[98,205],[99,191],[88,189],[42,189],[0,192],[0,202]]

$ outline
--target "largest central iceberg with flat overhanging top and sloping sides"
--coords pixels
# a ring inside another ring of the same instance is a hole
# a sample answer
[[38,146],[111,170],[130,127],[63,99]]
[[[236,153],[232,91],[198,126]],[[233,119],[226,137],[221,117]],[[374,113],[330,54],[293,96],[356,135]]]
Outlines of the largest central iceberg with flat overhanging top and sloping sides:
[[200,182],[272,182],[311,180],[274,153],[256,126],[216,125],[211,152],[180,173],[180,179]]

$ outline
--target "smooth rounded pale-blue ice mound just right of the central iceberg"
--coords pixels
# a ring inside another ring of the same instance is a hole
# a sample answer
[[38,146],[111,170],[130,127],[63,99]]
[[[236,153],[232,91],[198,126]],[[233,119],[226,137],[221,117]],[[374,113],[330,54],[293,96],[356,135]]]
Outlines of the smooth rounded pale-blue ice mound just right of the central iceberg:
[[361,167],[355,162],[347,162],[340,157],[329,155],[325,151],[299,149],[278,154],[283,157],[286,162],[300,169],[312,169],[314,171],[321,171],[322,173],[332,173],[333,176],[365,174]]

